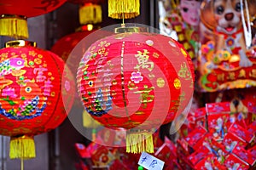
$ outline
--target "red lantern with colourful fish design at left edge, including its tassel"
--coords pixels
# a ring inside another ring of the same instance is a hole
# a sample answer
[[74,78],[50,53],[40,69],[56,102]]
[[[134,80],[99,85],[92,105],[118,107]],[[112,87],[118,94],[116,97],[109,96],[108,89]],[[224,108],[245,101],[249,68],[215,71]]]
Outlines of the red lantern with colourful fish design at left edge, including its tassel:
[[35,42],[7,42],[0,49],[0,134],[11,137],[11,159],[35,157],[33,136],[67,117],[71,106],[63,108],[73,102],[74,88],[68,70],[62,77],[63,69],[57,55],[36,48]]

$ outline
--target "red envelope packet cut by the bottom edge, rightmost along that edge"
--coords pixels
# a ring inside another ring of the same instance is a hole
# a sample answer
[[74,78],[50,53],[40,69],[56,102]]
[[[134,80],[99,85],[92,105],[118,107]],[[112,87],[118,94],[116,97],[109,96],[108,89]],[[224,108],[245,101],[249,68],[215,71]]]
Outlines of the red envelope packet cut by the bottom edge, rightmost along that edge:
[[242,161],[239,157],[235,156],[234,154],[226,156],[224,166],[230,169],[237,170],[247,170],[249,168],[247,162]]

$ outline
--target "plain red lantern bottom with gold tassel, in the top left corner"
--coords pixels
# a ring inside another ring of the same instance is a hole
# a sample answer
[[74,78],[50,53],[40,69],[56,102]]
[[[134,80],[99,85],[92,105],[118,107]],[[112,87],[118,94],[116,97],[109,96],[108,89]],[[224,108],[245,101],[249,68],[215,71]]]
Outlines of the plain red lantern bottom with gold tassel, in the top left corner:
[[0,35],[27,38],[26,19],[47,14],[67,0],[0,0]]

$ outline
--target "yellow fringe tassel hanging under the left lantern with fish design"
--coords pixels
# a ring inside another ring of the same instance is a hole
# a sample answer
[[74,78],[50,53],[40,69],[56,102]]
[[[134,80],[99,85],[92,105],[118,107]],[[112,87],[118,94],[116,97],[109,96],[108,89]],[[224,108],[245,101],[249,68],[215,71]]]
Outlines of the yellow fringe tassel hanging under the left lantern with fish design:
[[11,137],[9,143],[10,159],[32,159],[36,157],[34,139],[30,136]]

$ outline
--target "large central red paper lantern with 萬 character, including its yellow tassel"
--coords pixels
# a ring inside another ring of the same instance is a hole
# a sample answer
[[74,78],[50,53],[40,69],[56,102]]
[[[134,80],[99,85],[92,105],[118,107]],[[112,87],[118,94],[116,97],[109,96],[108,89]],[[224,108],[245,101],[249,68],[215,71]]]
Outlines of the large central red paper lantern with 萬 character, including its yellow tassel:
[[171,122],[189,104],[194,68],[170,37],[119,33],[88,48],[77,82],[90,116],[105,127],[127,129],[127,152],[153,152],[151,130]]

